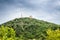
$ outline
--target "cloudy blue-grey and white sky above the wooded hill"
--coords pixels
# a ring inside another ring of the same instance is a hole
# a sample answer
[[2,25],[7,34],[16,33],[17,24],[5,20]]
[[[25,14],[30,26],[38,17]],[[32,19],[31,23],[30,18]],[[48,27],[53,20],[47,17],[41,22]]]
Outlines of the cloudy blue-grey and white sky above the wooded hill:
[[29,17],[60,24],[60,0],[0,0],[0,24]]

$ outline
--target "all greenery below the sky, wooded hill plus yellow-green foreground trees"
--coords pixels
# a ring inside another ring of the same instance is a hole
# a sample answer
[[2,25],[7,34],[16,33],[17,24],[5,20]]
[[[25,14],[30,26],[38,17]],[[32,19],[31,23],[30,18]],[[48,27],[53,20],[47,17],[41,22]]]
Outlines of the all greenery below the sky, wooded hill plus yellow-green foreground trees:
[[0,40],[60,40],[60,25],[35,18],[16,18],[0,25]]

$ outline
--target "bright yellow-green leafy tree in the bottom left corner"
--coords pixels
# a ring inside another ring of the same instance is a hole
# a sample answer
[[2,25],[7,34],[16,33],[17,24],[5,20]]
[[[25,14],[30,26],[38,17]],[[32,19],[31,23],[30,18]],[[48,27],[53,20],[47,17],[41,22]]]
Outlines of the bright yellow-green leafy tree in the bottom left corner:
[[1,40],[14,40],[15,38],[15,31],[9,27],[0,27],[0,39]]

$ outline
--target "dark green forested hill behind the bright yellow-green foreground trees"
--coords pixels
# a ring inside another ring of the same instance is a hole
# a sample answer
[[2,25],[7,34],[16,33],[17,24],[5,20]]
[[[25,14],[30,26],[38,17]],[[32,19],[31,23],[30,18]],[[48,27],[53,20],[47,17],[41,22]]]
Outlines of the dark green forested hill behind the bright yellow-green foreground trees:
[[[53,38],[51,39],[50,36],[48,36],[49,31],[47,30],[51,29],[55,32],[55,30],[60,28],[57,24],[27,17],[16,18],[0,26],[12,28],[15,31],[14,40],[53,40]],[[47,38],[47,36],[49,38]]]

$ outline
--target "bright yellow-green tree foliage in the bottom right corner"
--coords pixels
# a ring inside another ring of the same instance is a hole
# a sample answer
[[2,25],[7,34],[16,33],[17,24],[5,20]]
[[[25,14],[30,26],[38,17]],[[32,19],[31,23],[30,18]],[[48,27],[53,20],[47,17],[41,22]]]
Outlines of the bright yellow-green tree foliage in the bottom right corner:
[[51,29],[48,29],[47,30],[47,38],[46,40],[60,40],[60,30],[57,29],[57,30],[51,30]]

